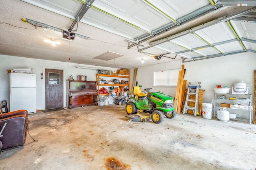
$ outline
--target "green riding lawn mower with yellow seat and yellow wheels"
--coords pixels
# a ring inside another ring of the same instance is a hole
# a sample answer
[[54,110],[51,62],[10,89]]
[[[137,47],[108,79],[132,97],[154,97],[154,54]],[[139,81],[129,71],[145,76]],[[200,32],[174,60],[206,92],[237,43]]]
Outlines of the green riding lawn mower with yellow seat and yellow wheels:
[[[161,123],[164,115],[172,119],[176,116],[174,100],[170,96],[160,92],[150,92],[152,88],[146,88],[141,92],[139,86],[134,86],[133,97],[126,104],[126,113],[131,121],[143,121],[152,119],[154,123]],[[139,112],[138,109],[140,109]]]

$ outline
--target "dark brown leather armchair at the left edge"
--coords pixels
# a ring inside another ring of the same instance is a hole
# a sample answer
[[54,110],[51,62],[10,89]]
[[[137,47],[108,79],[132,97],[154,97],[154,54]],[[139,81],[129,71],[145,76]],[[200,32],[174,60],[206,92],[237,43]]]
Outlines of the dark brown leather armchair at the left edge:
[[0,153],[22,147],[28,132],[28,111],[17,110],[0,114]]

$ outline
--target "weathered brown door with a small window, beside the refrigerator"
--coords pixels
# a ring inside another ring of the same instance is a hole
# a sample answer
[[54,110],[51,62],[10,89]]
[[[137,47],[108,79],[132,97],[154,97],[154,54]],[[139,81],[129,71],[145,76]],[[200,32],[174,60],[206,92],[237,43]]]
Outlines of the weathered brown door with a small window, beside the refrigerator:
[[63,107],[63,70],[45,69],[45,108]]

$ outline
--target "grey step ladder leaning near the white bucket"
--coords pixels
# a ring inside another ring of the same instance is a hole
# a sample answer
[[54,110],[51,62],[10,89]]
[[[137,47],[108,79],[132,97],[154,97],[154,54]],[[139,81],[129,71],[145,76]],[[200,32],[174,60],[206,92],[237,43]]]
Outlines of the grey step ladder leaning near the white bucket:
[[[193,110],[194,116],[198,113],[198,94],[201,82],[198,82],[197,86],[191,86],[191,82],[188,83],[188,92],[186,101],[183,108],[183,114],[188,113],[188,110]],[[190,96],[195,96],[195,99],[190,99]],[[194,102],[194,106],[188,106],[188,102]]]

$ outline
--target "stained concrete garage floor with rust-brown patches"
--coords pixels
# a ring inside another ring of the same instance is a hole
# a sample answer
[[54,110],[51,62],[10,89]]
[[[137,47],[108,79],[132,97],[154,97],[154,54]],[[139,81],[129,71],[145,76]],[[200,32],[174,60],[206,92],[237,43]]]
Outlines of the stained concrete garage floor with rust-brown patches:
[[28,135],[24,147],[2,152],[0,169],[256,169],[254,124],[192,114],[165,117],[160,124],[129,122],[124,108],[86,106],[29,115],[36,141]]

